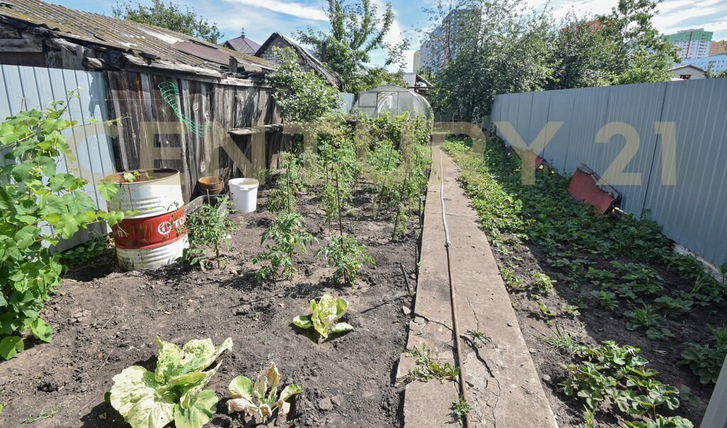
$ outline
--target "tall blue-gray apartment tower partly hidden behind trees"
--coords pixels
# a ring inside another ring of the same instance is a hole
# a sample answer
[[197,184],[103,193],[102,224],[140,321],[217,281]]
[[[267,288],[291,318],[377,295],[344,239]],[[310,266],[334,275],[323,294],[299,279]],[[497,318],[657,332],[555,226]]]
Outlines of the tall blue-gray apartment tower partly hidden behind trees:
[[[422,47],[419,49],[419,69],[428,68],[432,73],[437,73],[442,67],[444,60],[457,52],[449,52],[450,41],[454,38],[454,32],[467,17],[475,17],[473,9],[454,9],[444,17],[442,23],[427,34]],[[477,17],[478,18],[478,17]]]

